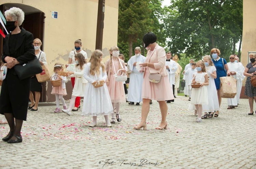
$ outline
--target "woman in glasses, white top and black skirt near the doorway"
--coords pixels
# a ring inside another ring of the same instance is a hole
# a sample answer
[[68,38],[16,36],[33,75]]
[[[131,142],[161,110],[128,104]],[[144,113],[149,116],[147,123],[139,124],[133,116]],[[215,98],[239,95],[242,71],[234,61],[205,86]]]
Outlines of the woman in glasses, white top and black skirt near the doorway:
[[[42,42],[40,39],[38,38],[34,39],[33,46],[35,49],[35,56],[37,56],[41,65],[46,65],[47,64],[46,55],[43,51],[40,50],[41,45],[42,45]],[[32,92],[35,92],[35,100]],[[29,99],[31,101],[31,105],[28,107],[28,110],[38,111],[38,102],[40,99],[40,92],[41,92],[41,83],[38,82],[37,77],[34,75],[31,77],[31,86],[30,86],[30,93],[29,93]]]

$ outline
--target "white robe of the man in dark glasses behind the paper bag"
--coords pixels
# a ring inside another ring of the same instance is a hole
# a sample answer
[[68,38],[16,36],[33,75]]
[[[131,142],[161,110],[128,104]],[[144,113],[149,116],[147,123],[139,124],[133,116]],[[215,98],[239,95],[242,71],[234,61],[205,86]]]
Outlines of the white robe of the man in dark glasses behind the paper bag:
[[[243,77],[243,68],[239,63],[228,62],[227,64],[228,64],[229,72],[236,72],[235,75],[230,75],[230,76],[232,76],[234,79],[237,79],[237,80]],[[227,100],[228,106],[237,106],[237,97],[240,97],[240,93],[239,95],[237,93],[234,98],[228,98]]]

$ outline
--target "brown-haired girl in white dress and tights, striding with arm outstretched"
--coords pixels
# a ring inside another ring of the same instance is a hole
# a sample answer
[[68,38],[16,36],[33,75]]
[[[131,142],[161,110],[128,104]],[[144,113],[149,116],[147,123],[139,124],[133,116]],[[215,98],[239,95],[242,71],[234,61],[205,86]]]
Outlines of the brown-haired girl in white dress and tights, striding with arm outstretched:
[[76,97],[84,97],[85,88],[87,84],[87,80],[83,77],[86,60],[84,59],[83,54],[77,53],[75,54],[75,71],[66,73],[68,77],[75,77],[75,84],[72,91],[72,96],[70,100],[70,105],[68,110],[61,109],[62,112],[71,115],[71,109],[75,105],[75,98]]

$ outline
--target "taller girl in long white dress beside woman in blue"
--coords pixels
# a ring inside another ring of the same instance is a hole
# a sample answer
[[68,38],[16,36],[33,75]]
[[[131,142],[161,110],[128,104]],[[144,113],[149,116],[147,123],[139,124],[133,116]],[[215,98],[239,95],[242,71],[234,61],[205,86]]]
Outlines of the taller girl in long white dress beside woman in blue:
[[[204,65],[209,77],[209,85],[207,86],[208,91],[208,105],[203,105],[204,115],[202,118],[213,117],[214,111],[219,111],[219,101],[217,90],[215,86],[214,79],[217,78],[216,68],[212,62],[212,59],[209,55],[203,57]],[[207,114],[209,112],[209,115]]]

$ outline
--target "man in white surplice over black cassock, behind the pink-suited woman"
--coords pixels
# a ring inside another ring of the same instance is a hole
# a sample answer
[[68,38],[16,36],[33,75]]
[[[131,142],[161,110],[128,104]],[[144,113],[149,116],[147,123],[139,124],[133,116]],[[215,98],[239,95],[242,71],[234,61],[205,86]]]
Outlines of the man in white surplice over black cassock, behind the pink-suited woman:
[[[172,53],[171,52],[167,52],[166,53],[166,62],[165,62],[165,66],[166,66],[166,70],[168,72],[168,79],[169,79],[169,82],[171,84],[171,88],[170,90],[172,90],[173,92],[173,95],[174,95],[174,87],[175,87],[175,72],[177,70],[177,64],[175,61],[173,61],[171,59],[172,57]],[[173,100],[167,100],[167,103],[170,103],[170,102],[174,102],[174,99]]]

